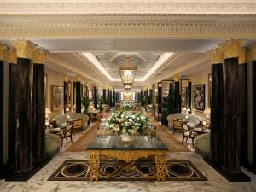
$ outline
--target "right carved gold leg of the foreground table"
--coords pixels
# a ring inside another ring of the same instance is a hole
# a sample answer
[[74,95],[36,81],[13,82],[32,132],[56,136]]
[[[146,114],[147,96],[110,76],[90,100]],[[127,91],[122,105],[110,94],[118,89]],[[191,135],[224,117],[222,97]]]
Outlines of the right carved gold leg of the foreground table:
[[166,178],[166,161],[167,155],[166,153],[155,155],[155,165],[156,165],[156,178],[157,181],[165,181]]

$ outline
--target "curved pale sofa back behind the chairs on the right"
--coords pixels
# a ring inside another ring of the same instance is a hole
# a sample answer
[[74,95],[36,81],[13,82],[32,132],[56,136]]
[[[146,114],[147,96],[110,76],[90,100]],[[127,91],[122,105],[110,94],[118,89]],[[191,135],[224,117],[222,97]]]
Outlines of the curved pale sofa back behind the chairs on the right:
[[188,115],[188,121],[194,123],[195,125],[199,125],[202,121],[206,120],[203,117],[200,117],[195,114],[183,114],[183,113],[175,113],[175,114],[169,114],[167,116],[168,121],[168,127],[172,127],[173,125],[173,119],[186,119],[186,115]]

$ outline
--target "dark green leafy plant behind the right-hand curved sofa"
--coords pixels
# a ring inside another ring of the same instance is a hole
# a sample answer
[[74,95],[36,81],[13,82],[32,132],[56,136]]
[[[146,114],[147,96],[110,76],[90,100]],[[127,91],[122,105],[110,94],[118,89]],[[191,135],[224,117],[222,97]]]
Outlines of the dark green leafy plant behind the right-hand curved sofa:
[[168,96],[163,98],[163,103],[162,103],[162,125],[167,125],[167,116],[169,114],[173,114],[176,113],[176,109],[175,109],[175,96],[174,94],[171,92],[169,93]]

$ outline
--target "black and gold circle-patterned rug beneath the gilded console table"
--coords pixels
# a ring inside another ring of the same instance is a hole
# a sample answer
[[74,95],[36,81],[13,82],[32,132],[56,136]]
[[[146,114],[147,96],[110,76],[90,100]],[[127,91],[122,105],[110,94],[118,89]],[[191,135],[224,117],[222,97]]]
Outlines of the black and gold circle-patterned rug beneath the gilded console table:
[[[136,169],[130,171],[117,168],[116,160],[102,161],[100,181],[156,181],[156,166],[152,160],[139,160]],[[90,181],[88,160],[66,160],[48,180]],[[168,160],[166,181],[207,181],[207,178],[189,160]]]

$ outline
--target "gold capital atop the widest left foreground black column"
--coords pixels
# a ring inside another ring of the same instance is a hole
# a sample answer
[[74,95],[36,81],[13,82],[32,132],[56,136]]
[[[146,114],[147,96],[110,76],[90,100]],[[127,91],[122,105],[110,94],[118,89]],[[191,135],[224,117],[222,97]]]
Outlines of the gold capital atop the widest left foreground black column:
[[18,58],[26,58],[32,59],[33,49],[35,48],[35,44],[28,40],[13,40],[12,44],[17,50]]

